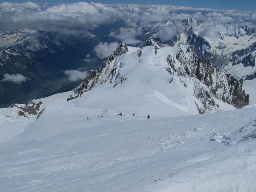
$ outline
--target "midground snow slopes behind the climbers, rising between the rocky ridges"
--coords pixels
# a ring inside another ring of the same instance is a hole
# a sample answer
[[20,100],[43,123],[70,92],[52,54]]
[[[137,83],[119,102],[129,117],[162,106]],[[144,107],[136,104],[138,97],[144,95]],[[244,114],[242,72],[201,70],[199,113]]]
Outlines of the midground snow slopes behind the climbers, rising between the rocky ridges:
[[[186,51],[186,46],[181,46]],[[84,92],[83,100],[73,100],[68,102],[68,106],[79,106],[83,108],[93,108],[96,110],[111,110],[112,115],[124,112],[129,114],[136,113],[137,115],[147,116],[185,116],[198,114],[198,109],[195,102],[201,101],[195,97],[195,90],[198,94],[203,88],[208,88],[205,85],[200,85],[194,77],[184,76],[182,82],[181,76],[170,74],[166,71],[170,66],[166,58],[172,56],[176,62],[177,70],[180,68],[180,63],[175,58],[175,55],[180,50],[180,47],[164,47],[155,49],[154,46],[148,46],[141,49],[141,55],[138,56],[140,49],[136,47],[128,47],[129,52],[121,56],[117,56],[116,62],[110,62],[106,67],[106,72],[100,74],[101,81],[97,83],[90,92]],[[185,52],[184,51],[184,52]],[[157,53],[156,53],[157,52]],[[188,53],[188,55],[191,53]],[[170,56],[171,55],[171,56]],[[118,59],[119,58],[119,59]],[[186,60],[184,60],[186,61]],[[189,65],[190,61],[188,61]],[[192,67],[189,66],[189,70]],[[111,76],[111,71],[115,69],[116,75]],[[185,72],[180,72],[185,74]],[[214,76],[214,75],[212,75]],[[126,78],[127,81],[122,79]],[[213,77],[214,78],[214,77]],[[106,81],[108,79],[108,81]],[[111,83],[112,81],[112,83]],[[92,81],[93,82],[93,81]],[[121,83],[120,83],[121,82]],[[213,79],[213,86],[218,83],[218,79]],[[220,79],[220,84],[227,84],[225,79]],[[186,84],[186,85],[184,85]],[[227,85],[228,86],[228,85]],[[109,89],[111,87],[111,89]],[[217,93],[226,94],[219,90]],[[66,102],[67,98],[73,94],[72,92],[53,95],[48,98],[34,100],[35,103],[42,102],[41,109],[50,105],[61,105]],[[205,94],[204,92],[202,93]],[[220,96],[218,96],[221,98]],[[216,99],[221,110],[233,110],[233,106]],[[203,100],[203,99],[202,99]],[[209,107],[210,105],[208,105]],[[215,111],[215,106],[211,112]],[[210,108],[210,107],[209,107]],[[14,138],[17,134],[29,126],[35,115],[28,115],[28,118],[23,118],[18,115],[19,109],[9,108],[0,109],[0,142],[5,142]],[[5,133],[6,130],[11,130]]]

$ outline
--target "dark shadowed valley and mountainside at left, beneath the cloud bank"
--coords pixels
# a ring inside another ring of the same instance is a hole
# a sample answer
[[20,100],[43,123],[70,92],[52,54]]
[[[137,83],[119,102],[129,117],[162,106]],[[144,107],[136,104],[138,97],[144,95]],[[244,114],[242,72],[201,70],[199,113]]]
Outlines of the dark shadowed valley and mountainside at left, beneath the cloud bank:
[[[92,34],[72,36],[27,30],[1,31],[1,36],[12,44],[0,53],[0,105],[69,91],[79,81],[70,82],[65,70],[79,68],[88,72],[97,67],[94,61],[84,61],[87,54],[95,54],[92,50],[99,43]],[[5,80],[6,74],[21,74],[26,81]]]

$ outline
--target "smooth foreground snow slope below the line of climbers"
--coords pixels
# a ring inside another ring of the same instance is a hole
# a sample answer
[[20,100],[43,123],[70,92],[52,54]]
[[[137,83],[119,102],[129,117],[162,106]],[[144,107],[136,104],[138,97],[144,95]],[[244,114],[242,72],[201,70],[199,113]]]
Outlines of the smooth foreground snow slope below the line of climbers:
[[72,103],[0,144],[0,191],[256,190],[256,105],[147,119]]

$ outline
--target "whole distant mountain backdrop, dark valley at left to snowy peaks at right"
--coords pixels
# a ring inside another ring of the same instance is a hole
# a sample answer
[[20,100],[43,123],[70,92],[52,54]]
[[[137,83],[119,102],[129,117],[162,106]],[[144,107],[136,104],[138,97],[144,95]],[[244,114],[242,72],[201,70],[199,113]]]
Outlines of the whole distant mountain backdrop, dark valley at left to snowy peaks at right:
[[[65,71],[90,75],[105,59],[97,56],[95,46],[100,42],[121,43],[120,30],[141,30],[136,42],[131,41],[128,46],[145,47],[153,45],[152,42],[158,47],[190,45],[204,63],[211,61],[214,67],[238,80],[255,78],[256,28],[191,17],[153,22],[151,27],[120,28],[120,25],[120,22],[102,25],[83,36],[29,29],[1,30],[5,46],[1,47],[0,54],[0,105],[75,88],[86,76],[70,81]],[[18,75],[22,78],[18,79]]]

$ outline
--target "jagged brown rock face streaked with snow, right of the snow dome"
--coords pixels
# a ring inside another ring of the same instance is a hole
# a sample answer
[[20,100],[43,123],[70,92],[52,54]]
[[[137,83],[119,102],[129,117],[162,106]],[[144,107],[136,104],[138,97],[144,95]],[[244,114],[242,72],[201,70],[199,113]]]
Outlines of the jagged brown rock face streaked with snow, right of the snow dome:
[[[177,67],[171,57],[167,58],[169,73],[179,76],[184,86],[191,78],[196,78],[206,85],[202,87],[197,80],[194,84],[194,94],[204,105],[204,108],[198,107],[199,113],[210,112],[212,108],[219,107],[215,104],[213,96],[236,108],[249,104],[249,95],[242,89],[243,80],[238,81],[224,71],[214,68],[211,62],[201,61],[191,46],[181,46],[176,59],[180,61],[181,66]],[[199,106],[198,103],[196,105]]]

